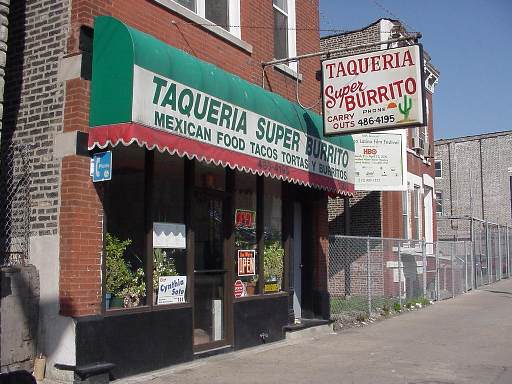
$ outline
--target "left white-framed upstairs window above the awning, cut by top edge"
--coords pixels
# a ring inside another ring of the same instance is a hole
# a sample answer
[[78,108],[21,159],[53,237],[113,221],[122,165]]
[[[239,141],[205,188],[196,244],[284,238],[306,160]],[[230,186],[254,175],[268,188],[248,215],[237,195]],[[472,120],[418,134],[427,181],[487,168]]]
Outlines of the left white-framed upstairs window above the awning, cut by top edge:
[[240,0],[172,0],[240,38]]

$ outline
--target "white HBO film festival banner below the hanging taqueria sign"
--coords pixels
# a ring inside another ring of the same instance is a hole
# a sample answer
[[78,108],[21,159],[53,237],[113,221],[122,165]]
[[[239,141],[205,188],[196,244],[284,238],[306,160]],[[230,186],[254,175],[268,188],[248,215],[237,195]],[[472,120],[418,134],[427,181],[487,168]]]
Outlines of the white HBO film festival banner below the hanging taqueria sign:
[[407,131],[352,135],[356,191],[407,190]]

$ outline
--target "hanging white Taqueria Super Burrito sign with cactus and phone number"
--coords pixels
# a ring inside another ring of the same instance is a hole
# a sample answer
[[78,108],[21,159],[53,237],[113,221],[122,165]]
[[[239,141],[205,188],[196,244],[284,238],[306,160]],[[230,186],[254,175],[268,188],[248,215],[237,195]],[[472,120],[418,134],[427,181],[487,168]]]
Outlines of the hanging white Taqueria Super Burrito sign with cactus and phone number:
[[322,62],[326,135],[425,125],[420,44]]

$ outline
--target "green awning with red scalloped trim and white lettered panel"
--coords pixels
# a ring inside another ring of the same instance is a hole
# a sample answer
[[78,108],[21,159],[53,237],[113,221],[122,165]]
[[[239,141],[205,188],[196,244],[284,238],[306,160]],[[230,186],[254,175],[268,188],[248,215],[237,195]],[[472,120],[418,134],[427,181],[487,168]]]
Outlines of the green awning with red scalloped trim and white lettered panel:
[[90,125],[89,149],[136,142],[354,191],[351,136],[324,137],[320,115],[108,16],[94,25]]

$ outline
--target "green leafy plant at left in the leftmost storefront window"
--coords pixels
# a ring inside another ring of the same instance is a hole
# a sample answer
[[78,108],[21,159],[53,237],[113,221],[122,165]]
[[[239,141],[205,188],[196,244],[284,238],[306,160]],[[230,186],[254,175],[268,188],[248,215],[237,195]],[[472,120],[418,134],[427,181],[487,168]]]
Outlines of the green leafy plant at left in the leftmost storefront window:
[[106,289],[112,295],[121,296],[133,279],[133,273],[124,258],[124,253],[132,241],[120,240],[110,233],[106,234],[105,240]]

